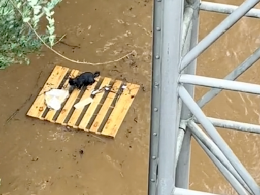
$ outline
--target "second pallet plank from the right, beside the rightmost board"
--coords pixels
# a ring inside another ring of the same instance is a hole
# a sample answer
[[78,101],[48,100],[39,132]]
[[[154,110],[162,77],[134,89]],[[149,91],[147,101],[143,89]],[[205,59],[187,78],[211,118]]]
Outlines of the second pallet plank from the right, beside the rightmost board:
[[111,91],[113,92],[109,92],[108,96],[104,102],[104,104],[102,105],[98,115],[96,116],[93,124],[91,125],[89,131],[92,133],[96,133],[98,134],[98,129],[100,128],[100,125],[102,123],[102,121],[104,120],[111,104],[113,103],[113,100],[116,96],[116,93],[118,92],[118,90],[120,89],[120,86],[122,84],[122,81],[116,80],[115,83],[113,84]]

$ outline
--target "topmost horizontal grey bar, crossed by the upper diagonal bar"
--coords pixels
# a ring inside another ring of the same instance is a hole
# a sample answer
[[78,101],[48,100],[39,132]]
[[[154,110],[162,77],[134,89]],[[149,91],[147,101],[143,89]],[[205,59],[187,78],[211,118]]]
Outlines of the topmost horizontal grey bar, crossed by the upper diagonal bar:
[[[234,5],[220,4],[220,3],[206,2],[206,1],[202,1],[200,4],[201,10],[223,13],[223,14],[231,14],[237,8],[238,6],[234,6]],[[245,16],[252,17],[252,18],[260,18],[260,10],[253,8],[249,12],[247,12]]]

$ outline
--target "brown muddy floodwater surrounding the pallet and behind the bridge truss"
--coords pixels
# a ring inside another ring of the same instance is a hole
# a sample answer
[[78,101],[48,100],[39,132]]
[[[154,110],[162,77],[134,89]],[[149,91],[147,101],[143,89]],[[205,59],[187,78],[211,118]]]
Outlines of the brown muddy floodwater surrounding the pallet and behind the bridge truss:
[[[241,0],[219,3],[239,5]],[[30,66],[0,72],[0,194],[2,195],[145,195],[147,194],[151,80],[151,0],[66,1],[55,9],[56,32],[67,34],[54,49],[89,62],[115,60],[102,66],[63,60],[44,48]],[[258,6],[260,8],[260,6]],[[226,15],[200,13],[203,39]],[[243,18],[198,59],[197,74],[223,78],[260,45],[259,20]],[[138,95],[116,139],[26,117],[41,86],[56,64],[137,83]],[[239,81],[260,84],[257,62]],[[208,89],[196,88],[198,100]],[[222,91],[204,107],[208,116],[260,123],[256,95]],[[260,182],[259,136],[218,129],[255,180]],[[83,151],[83,152],[82,152]],[[190,188],[236,194],[192,140]]]

